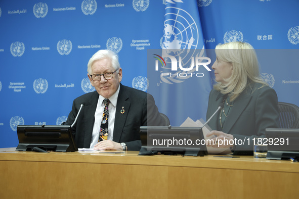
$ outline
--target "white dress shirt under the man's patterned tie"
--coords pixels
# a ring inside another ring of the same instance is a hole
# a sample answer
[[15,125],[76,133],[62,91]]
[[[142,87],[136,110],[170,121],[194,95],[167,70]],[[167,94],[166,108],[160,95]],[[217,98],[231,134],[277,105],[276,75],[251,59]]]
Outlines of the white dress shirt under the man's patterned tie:
[[[115,121],[115,113],[116,113],[116,104],[117,104],[117,97],[119,93],[119,88],[116,90],[116,92],[109,98],[109,105],[108,105],[108,110],[109,110],[109,116],[108,116],[108,140],[113,139],[113,129],[114,129],[114,121]],[[94,123],[94,128],[93,128],[93,134],[92,134],[92,141],[90,148],[94,148],[96,143],[98,143],[99,140],[99,133],[100,133],[100,127],[101,127],[101,122],[102,122],[102,117],[103,117],[103,112],[104,112],[104,97],[99,96],[98,100],[98,105],[95,113],[95,123]]]

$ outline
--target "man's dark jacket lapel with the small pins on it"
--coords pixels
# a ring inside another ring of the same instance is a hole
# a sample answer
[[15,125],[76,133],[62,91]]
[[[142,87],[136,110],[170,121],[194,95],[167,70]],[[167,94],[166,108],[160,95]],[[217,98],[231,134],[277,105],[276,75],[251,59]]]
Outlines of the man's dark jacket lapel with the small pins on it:
[[[114,130],[113,130],[113,141],[119,142],[120,136],[122,133],[122,129],[124,127],[127,114],[130,109],[130,101],[129,96],[125,92],[125,88],[122,84],[119,85],[119,93],[117,97],[117,105],[116,105],[116,113],[115,113],[115,122],[114,122]],[[124,110],[124,113],[122,113]]]

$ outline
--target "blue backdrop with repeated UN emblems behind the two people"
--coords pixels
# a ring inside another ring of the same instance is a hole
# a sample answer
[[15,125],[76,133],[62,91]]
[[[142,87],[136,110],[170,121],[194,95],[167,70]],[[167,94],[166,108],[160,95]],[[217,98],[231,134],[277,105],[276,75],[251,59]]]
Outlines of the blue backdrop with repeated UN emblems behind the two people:
[[[122,84],[152,93],[173,126],[205,119],[213,73],[197,82],[152,81],[152,49],[213,49],[234,40],[269,49],[259,54],[262,77],[279,101],[299,106],[298,8],[297,0],[2,0],[0,147],[17,146],[18,124],[65,121],[74,98],[94,90],[87,63],[106,48],[119,55]],[[187,111],[169,103],[184,101],[182,93],[192,100]]]

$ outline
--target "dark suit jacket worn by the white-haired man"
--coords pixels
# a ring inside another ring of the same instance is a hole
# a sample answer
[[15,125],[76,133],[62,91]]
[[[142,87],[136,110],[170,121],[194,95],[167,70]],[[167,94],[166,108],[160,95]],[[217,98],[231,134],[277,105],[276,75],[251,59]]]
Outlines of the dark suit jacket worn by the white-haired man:
[[[80,104],[84,105],[76,124],[72,128],[78,148],[90,147],[98,98],[97,91],[77,97],[73,102],[72,111],[67,121],[63,123],[63,125],[71,125],[77,116]],[[120,113],[122,107],[124,107],[123,114]],[[120,84],[113,141],[126,143],[127,150],[139,151],[141,148],[140,126],[160,126],[162,124],[161,116],[152,95]]]

